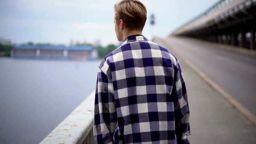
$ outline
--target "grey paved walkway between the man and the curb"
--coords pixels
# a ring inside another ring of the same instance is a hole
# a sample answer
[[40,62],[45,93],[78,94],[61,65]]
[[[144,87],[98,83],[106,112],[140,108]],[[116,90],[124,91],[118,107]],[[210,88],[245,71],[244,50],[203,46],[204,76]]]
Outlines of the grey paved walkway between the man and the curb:
[[181,59],[189,101],[191,144],[256,144],[256,125]]

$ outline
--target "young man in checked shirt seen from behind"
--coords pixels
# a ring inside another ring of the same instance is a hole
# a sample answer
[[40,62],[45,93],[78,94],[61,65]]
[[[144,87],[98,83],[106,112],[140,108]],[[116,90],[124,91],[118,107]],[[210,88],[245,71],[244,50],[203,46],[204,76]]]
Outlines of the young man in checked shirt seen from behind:
[[189,106],[176,57],[142,34],[146,7],[115,4],[115,32],[123,44],[101,61],[93,134],[98,144],[189,144]]

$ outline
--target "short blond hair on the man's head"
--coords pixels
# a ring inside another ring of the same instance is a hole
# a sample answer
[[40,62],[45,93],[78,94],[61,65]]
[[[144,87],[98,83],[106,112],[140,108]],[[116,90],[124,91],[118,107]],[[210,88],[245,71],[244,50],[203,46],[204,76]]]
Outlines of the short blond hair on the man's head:
[[142,30],[147,20],[147,9],[139,0],[122,0],[114,5],[115,20],[122,19],[127,29]]

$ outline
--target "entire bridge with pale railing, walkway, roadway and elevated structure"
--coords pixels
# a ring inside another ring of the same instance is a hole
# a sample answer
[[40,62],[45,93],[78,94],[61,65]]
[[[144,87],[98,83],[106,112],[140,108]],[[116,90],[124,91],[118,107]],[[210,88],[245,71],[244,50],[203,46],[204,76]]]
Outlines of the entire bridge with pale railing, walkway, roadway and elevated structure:
[[[256,0],[220,0],[155,38],[179,59],[195,144],[256,143]],[[41,144],[93,144],[93,92]]]

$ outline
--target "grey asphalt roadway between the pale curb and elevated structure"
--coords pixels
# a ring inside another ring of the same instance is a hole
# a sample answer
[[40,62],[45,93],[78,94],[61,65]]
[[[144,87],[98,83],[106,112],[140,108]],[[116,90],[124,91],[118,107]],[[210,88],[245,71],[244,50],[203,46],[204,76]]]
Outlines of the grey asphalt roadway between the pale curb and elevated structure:
[[256,57],[185,37],[163,40],[256,115]]

